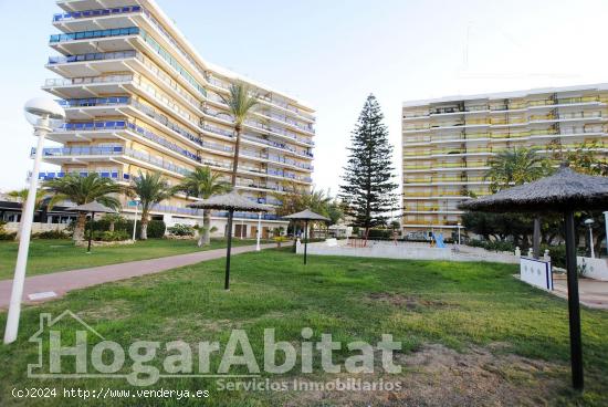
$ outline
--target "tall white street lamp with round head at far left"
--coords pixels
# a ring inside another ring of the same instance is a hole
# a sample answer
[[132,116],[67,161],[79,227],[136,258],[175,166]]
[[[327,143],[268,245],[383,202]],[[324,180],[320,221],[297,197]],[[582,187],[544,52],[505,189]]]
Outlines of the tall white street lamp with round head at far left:
[[12,281],[11,302],[4,331],[4,343],[10,344],[17,340],[19,330],[19,315],[21,313],[21,298],[23,296],[23,284],[25,282],[25,267],[28,265],[28,251],[30,249],[30,237],[32,234],[32,221],[34,217],[35,194],[38,189],[38,174],[42,159],[44,137],[53,127],[61,125],[65,118],[65,112],[53,100],[36,97],[28,101],[23,107],[25,118],[34,127],[34,136],[38,136],[38,145],[34,155],[34,168],[30,178],[28,199],[21,213],[21,237],[19,239],[19,251],[14,267]]

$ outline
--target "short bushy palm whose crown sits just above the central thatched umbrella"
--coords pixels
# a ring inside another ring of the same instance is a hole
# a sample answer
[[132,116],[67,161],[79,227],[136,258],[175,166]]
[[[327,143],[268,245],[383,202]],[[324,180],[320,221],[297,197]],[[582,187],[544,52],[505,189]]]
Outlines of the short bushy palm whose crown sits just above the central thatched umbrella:
[[[216,194],[228,192],[231,189],[229,182],[222,179],[222,175],[211,171],[209,167],[197,167],[178,185],[175,190],[186,192],[189,197],[207,199]],[[202,218],[202,234],[198,246],[207,246],[210,242],[211,211],[206,209]]]

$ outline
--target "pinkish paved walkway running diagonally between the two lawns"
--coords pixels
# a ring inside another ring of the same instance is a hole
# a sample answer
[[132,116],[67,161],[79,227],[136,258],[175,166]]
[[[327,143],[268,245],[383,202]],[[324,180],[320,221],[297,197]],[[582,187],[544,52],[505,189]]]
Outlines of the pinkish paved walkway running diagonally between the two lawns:
[[[262,249],[272,248],[275,244],[262,244]],[[255,246],[232,248],[232,254],[255,251]],[[34,303],[30,295],[42,296],[41,300],[52,300],[62,296],[69,291],[84,289],[86,286],[106,283],[109,281],[126,280],[134,276],[159,273],[165,270],[184,265],[196,264],[201,261],[220,259],[226,257],[226,249],[198,251],[187,254],[170,255],[159,259],[132,261],[128,263],[101,265],[91,269],[61,271],[51,274],[29,276],[25,279],[23,302]],[[0,309],[8,307],[11,296],[12,279],[0,281]],[[54,292],[56,295],[44,298],[44,293]]]

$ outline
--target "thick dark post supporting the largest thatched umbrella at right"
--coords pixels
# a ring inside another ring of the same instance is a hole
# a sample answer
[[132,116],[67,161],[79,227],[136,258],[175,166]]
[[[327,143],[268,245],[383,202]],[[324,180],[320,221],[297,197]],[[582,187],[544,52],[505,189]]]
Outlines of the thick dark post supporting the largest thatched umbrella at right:
[[564,213],[564,221],[566,223],[566,269],[568,273],[568,316],[573,387],[576,390],[583,390],[583,344],[580,340],[580,304],[578,302],[574,212]]

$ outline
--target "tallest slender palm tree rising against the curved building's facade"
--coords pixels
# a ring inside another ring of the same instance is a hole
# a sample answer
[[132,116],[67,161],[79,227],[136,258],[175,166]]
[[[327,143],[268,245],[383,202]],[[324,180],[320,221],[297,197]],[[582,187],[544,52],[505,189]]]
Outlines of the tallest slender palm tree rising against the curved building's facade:
[[220,95],[223,103],[228,105],[228,109],[234,121],[234,134],[237,142],[234,144],[234,158],[232,160],[232,186],[237,185],[237,170],[239,168],[239,150],[241,148],[241,132],[243,123],[251,114],[253,106],[258,104],[258,97],[252,95],[251,87],[242,82],[238,82],[230,86],[228,96]]

